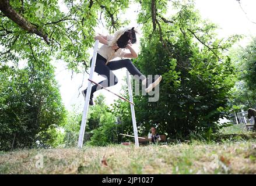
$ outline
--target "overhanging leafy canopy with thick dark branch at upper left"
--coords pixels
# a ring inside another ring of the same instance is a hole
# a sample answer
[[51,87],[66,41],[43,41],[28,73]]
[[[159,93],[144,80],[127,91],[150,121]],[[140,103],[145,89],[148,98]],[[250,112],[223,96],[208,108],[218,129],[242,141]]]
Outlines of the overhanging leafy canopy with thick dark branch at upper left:
[[94,43],[94,28],[102,22],[101,14],[113,32],[126,23],[117,15],[128,3],[68,0],[62,4],[66,10],[61,10],[58,0],[1,0],[1,66],[8,65],[8,60],[33,59],[34,66],[44,68],[54,57],[64,60],[69,69],[87,70],[87,50]]

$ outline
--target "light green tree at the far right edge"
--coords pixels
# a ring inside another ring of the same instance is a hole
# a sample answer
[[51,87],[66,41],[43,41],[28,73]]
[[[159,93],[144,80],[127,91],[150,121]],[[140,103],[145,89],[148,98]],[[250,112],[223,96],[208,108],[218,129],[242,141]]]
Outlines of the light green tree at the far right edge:
[[235,111],[256,107],[256,38],[252,38],[245,48],[239,47],[230,52],[236,66],[237,82],[232,89],[230,105]]

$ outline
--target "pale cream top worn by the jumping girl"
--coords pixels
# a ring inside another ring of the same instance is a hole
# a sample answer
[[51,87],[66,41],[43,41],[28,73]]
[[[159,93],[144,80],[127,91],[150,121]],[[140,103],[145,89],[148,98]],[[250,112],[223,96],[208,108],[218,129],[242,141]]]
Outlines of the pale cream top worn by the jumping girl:
[[[107,35],[107,41],[111,41],[113,38],[113,36],[111,35]],[[103,58],[107,59],[107,61],[110,61],[111,59],[114,58],[123,58],[125,55],[125,52],[122,51],[121,48],[119,48],[117,50],[117,52],[115,52],[111,47],[107,47],[107,45],[102,45],[102,47],[100,47],[98,49],[98,53],[103,56]]]

